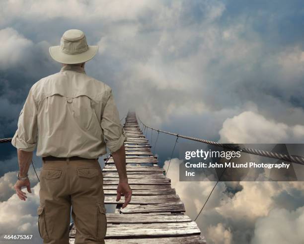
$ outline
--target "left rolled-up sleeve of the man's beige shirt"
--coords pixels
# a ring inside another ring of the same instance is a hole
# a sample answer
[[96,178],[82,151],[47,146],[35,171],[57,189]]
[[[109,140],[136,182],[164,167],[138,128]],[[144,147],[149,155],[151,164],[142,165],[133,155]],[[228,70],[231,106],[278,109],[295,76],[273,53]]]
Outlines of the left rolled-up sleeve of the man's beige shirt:
[[20,150],[32,152],[37,146],[37,104],[32,89],[26,98],[18,119],[18,128],[11,140],[11,144]]

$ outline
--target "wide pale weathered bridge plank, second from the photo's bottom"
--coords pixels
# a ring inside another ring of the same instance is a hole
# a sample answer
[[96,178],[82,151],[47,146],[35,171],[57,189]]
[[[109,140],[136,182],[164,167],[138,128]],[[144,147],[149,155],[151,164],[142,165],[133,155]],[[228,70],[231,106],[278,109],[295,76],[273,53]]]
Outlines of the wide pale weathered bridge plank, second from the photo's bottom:
[[[70,237],[75,237],[76,228],[73,226]],[[200,229],[194,221],[151,224],[108,224],[105,239],[132,237],[170,237],[182,235],[199,235]]]

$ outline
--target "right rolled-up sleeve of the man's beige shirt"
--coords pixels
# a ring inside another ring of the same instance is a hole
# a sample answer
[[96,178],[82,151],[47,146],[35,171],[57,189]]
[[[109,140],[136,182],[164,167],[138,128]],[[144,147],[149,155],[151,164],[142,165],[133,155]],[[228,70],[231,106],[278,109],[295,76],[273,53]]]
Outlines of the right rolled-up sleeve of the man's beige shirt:
[[112,91],[109,92],[108,99],[101,116],[101,128],[107,148],[111,153],[119,150],[127,137],[120,123],[119,113],[114,101]]

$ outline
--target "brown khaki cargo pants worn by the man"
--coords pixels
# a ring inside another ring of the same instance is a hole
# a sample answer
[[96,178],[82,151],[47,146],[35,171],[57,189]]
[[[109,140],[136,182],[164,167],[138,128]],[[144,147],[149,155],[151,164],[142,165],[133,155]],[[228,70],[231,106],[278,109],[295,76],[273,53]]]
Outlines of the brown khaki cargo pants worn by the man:
[[103,176],[97,159],[44,161],[40,172],[39,233],[44,244],[104,244],[107,230]]

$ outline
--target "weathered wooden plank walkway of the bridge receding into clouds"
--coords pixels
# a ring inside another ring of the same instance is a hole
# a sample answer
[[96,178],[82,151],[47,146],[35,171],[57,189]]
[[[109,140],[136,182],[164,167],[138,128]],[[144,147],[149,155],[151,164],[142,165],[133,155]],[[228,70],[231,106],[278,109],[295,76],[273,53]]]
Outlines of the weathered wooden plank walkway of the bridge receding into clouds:
[[[139,128],[134,112],[128,112],[124,124],[127,141],[126,168],[133,195],[122,209],[122,197],[116,202],[118,172],[111,155],[105,160],[103,190],[105,204],[116,204],[106,214],[106,244],[206,244],[197,224],[185,215],[185,207],[169,178],[164,176],[151,146]],[[75,242],[76,226],[71,225],[70,244]]]

